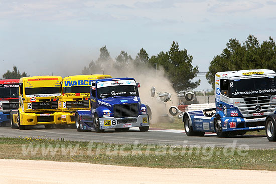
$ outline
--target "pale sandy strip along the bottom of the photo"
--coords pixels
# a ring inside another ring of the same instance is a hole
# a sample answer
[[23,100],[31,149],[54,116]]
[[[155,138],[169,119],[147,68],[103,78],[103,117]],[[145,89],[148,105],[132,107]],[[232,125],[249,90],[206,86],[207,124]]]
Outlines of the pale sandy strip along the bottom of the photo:
[[276,172],[0,159],[0,183],[275,183]]

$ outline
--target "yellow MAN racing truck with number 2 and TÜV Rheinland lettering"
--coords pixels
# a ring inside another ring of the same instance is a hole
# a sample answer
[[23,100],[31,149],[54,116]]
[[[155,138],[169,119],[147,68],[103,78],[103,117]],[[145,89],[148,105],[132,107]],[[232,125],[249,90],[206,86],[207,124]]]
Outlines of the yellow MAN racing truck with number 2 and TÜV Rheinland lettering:
[[12,128],[25,129],[30,125],[53,128],[61,124],[57,111],[61,110],[60,76],[23,77],[19,81],[19,109],[11,115]]

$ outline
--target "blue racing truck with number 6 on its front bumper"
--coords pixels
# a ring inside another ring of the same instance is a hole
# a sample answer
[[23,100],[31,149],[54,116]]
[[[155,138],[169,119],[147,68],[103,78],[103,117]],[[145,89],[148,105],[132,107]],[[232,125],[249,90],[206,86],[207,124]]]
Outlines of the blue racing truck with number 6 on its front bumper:
[[147,107],[141,104],[137,87],[140,84],[133,78],[93,80],[90,89],[91,109],[75,113],[77,131],[127,131],[130,127],[148,131],[150,119]]

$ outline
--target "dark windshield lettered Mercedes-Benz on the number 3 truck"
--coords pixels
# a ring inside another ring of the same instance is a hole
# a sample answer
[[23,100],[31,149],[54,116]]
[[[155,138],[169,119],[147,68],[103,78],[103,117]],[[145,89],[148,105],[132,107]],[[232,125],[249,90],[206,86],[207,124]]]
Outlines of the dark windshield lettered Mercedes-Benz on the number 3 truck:
[[276,94],[275,77],[229,80],[228,87],[233,98]]

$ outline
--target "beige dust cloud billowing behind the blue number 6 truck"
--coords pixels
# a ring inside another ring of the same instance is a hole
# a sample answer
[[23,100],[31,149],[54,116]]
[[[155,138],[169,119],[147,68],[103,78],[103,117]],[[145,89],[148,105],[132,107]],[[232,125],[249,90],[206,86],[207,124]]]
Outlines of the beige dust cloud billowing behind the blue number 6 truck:
[[[172,87],[172,84],[164,70],[158,69],[141,64],[141,62],[135,63],[135,61],[130,61],[129,63],[118,64],[117,62],[110,60],[101,62],[101,71],[94,71],[90,68],[92,74],[109,74],[113,78],[117,77],[133,77],[136,82],[140,82],[141,88],[139,88],[139,95],[142,103],[149,105],[152,111],[151,123],[156,123],[160,121],[168,122],[168,117],[160,117],[162,114],[169,114],[169,108],[172,105],[178,104],[177,94]],[[87,74],[87,73],[85,73]],[[155,97],[151,97],[151,88],[154,86],[156,88]],[[159,92],[169,92],[172,94],[171,99],[168,102],[163,102],[159,100]]]

